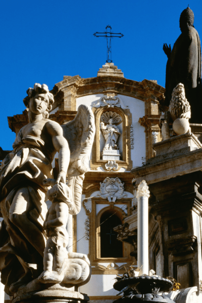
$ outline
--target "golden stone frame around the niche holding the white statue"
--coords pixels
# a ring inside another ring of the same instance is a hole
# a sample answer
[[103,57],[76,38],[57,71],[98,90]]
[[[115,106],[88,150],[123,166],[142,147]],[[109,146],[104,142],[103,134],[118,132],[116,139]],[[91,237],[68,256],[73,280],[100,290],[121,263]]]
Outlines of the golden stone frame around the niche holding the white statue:
[[121,108],[108,108],[102,107],[94,110],[95,116],[95,138],[92,148],[92,160],[90,161],[90,168],[96,170],[98,167],[103,167],[104,170],[107,170],[105,164],[106,160],[100,159],[100,117],[106,112],[115,112],[121,116],[122,119],[122,146],[123,146],[123,157],[122,160],[116,161],[118,164],[118,170],[123,167],[126,169],[132,169],[131,161],[131,147],[130,147],[130,125],[132,123],[132,114],[129,109],[123,110]]

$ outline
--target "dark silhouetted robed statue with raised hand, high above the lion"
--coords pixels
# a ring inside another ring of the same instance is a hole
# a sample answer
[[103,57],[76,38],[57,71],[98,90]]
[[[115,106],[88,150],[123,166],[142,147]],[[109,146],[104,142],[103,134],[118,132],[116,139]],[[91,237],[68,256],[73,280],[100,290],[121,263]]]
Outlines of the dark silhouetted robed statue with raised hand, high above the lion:
[[171,51],[166,43],[163,50],[168,57],[166,66],[166,99],[169,106],[173,89],[184,84],[185,95],[191,107],[191,123],[202,123],[201,48],[200,38],[193,26],[194,15],[188,7],[180,15],[181,35]]

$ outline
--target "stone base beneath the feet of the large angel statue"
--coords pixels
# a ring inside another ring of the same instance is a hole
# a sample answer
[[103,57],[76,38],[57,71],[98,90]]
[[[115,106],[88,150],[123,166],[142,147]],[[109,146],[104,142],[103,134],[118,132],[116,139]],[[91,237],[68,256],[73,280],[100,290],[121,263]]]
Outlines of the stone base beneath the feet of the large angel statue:
[[77,291],[68,290],[59,284],[37,284],[30,282],[20,288],[12,303],[87,303],[89,297]]

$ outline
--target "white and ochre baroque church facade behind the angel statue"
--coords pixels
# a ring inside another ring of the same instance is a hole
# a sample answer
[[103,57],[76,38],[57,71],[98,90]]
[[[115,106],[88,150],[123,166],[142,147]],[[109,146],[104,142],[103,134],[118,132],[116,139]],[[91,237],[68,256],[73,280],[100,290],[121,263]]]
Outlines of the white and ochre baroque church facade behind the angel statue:
[[[153,158],[152,145],[162,140],[159,119],[165,89],[155,80],[126,79],[117,66],[106,63],[97,77],[64,76],[51,92],[55,103],[49,119],[60,125],[73,120],[82,104],[94,114],[90,169],[83,182],[81,211],[68,220],[68,250],[82,251],[91,262],[91,280],[79,291],[87,293],[90,301],[112,302],[117,298],[113,289],[116,275],[137,265],[137,210],[131,169]],[[27,110],[8,120],[17,135],[28,123]],[[57,175],[57,156],[53,168]],[[149,266],[163,276],[157,227],[152,224]]]

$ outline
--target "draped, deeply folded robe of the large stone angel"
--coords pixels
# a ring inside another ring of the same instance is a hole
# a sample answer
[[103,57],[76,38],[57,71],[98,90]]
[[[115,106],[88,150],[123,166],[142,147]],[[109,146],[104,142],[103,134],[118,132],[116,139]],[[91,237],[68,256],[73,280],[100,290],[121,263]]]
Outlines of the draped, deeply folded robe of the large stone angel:
[[[0,270],[5,284],[5,291],[24,273],[18,260],[21,258],[28,268],[36,270],[36,264],[43,262],[41,251],[32,245],[37,233],[44,233],[43,222],[47,213],[45,193],[47,188],[42,185],[45,178],[52,178],[53,150],[46,150],[40,138],[27,135],[22,138],[21,131],[13,144],[14,150],[2,162],[0,171],[1,213],[4,218],[0,230]],[[27,239],[24,230],[15,226],[9,217],[10,207],[15,194],[20,188],[27,189],[26,199],[31,203],[31,210],[26,212],[27,218],[36,227],[36,234]]]

